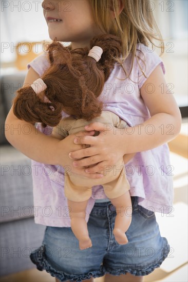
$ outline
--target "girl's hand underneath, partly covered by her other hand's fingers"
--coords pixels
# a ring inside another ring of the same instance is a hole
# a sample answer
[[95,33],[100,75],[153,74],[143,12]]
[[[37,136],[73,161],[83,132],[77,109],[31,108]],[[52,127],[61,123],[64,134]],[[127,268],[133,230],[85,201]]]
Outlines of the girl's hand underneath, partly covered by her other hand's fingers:
[[[90,137],[94,134],[95,134],[95,131],[81,131],[81,132],[78,132],[76,134],[68,135],[66,138],[60,140],[59,144],[58,144],[58,148],[57,148],[57,154],[58,154],[58,158],[59,158],[58,164],[61,165],[62,167],[64,167],[65,169],[68,168],[69,173],[71,173],[71,171],[72,171],[73,173],[76,173],[76,174],[79,174],[79,175],[82,175],[82,176],[86,176],[86,177],[89,176],[89,178],[93,178],[93,179],[101,178],[103,175],[100,174],[100,173],[92,173],[91,175],[88,175],[85,172],[85,167],[82,167],[82,166],[74,167],[72,165],[74,158],[69,157],[70,151],[71,152],[74,152],[74,151],[79,152],[80,150],[83,150],[83,148],[90,147],[89,145],[85,145],[85,144],[75,144],[73,142],[73,140],[75,138],[82,138],[84,136]],[[60,154],[60,152],[62,152],[63,155]],[[80,159],[80,157],[79,157],[79,159]]]

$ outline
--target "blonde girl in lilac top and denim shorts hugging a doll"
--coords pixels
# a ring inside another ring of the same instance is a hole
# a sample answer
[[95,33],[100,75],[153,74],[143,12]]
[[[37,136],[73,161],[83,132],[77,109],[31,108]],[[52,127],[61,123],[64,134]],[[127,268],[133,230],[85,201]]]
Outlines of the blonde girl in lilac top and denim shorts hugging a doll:
[[[173,203],[165,143],[181,127],[179,108],[166,87],[163,63],[147,48],[148,42],[161,38],[152,9],[147,0],[45,0],[42,5],[50,38],[71,42],[71,50],[89,48],[90,39],[96,35],[120,36],[122,65],[112,70],[100,97],[106,110],[118,114],[130,127],[114,131],[92,123],[85,127],[86,132],[63,140],[49,136],[49,128],[42,130],[40,125],[37,130],[31,125],[29,135],[24,131],[14,135],[6,132],[9,142],[34,160],[34,205],[40,207],[35,222],[47,226],[43,244],[31,254],[31,259],[37,269],[45,269],[60,281],[92,281],[105,274],[108,282],[142,281],[170,251],[166,238],[160,236],[155,212],[163,209],[167,213]],[[46,54],[28,67],[27,85],[48,68]],[[27,124],[17,119],[12,109],[6,123],[20,128]],[[99,136],[92,136],[95,130],[100,131]],[[62,188],[64,169],[100,178],[104,166],[113,166],[128,153],[136,153],[125,167],[133,206],[126,233],[128,244],[116,243],[112,234],[114,207],[102,187],[95,186],[86,210],[92,247],[80,250],[67,216],[69,209]],[[46,207],[51,211],[47,216],[43,212]]]

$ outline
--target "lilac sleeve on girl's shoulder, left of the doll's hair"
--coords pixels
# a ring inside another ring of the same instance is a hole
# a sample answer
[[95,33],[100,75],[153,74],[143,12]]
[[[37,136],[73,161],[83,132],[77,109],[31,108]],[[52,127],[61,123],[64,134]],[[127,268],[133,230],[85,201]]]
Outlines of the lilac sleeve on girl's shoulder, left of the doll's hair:
[[27,68],[29,69],[32,67],[35,72],[37,72],[40,76],[43,75],[45,70],[47,70],[50,66],[50,63],[48,61],[48,53],[43,52],[39,56],[33,59],[28,65]]

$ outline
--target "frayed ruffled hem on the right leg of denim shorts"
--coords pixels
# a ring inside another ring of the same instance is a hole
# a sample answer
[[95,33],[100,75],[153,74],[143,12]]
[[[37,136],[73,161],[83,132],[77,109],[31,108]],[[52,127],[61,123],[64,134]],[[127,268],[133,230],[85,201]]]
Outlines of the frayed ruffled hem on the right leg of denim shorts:
[[148,275],[150,273],[152,273],[156,268],[160,267],[161,264],[163,263],[164,259],[168,256],[168,253],[170,252],[170,246],[167,246],[166,249],[163,252],[163,256],[160,258],[160,260],[158,261],[154,261],[154,263],[152,263],[149,266],[142,266],[139,268],[135,267],[135,269],[130,268],[127,266],[126,270],[124,269],[112,269],[110,267],[105,267],[105,271],[106,273],[109,273],[111,275],[120,275],[120,274],[126,274],[127,272],[135,275],[135,276],[145,276]]

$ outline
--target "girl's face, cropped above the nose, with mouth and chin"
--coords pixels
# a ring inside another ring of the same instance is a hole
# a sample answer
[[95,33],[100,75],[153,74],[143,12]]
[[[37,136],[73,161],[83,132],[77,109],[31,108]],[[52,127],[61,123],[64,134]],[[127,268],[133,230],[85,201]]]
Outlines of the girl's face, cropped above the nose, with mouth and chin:
[[89,47],[90,39],[102,34],[89,0],[44,0],[42,6],[50,38],[71,42],[72,49]]

